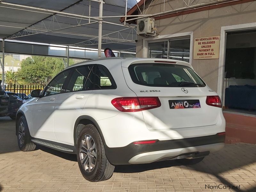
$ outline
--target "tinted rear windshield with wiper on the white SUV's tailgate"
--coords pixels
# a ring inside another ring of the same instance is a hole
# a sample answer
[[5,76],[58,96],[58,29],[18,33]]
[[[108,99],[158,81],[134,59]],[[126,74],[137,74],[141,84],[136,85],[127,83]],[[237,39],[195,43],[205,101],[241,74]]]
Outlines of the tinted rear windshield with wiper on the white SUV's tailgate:
[[152,87],[204,87],[193,69],[174,64],[133,64],[128,67],[132,81]]

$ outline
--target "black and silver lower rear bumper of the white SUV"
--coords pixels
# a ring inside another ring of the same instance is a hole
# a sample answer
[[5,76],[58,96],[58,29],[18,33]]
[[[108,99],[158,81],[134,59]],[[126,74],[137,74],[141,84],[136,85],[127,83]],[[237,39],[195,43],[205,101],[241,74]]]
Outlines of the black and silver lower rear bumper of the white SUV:
[[[109,148],[105,146],[107,158],[111,164],[144,164],[156,161],[175,159],[182,154],[206,156],[209,152],[218,151],[224,147],[225,135],[209,135],[175,140],[158,140],[147,145],[130,143],[124,147]],[[203,154],[203,155],[202,155]],[[193,156],[193,157],[199,157]]]

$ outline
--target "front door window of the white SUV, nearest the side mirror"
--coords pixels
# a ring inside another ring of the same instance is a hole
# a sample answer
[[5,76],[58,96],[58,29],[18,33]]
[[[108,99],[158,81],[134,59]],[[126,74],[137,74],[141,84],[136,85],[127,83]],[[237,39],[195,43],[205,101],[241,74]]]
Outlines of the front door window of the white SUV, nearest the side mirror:
[[65,82],[65,80],[68,77],[68,74],[70,73],[71,69],[64,71],[54,77],[54,79],[51,81],[50,84],[47,85],[46,90],[44,92],[44,96],[49,96],[49,95],[55,95],[60,92],[63,92],[62,86]]

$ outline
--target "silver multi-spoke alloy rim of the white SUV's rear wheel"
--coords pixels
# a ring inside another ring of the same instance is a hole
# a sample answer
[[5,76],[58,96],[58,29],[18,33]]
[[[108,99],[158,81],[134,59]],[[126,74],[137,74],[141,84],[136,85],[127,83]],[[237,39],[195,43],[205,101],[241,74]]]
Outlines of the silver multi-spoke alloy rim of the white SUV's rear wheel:
[[84,135],[81,140],[79,157],[84,170],[92,172],[96,164],[97,150],[95,142],[89,134]]

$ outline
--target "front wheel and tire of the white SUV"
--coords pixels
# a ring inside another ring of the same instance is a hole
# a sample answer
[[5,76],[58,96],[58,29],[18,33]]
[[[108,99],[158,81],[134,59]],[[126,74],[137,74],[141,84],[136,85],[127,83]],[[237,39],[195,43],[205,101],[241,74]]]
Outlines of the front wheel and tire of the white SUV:
[[36,149],[36,144],[31,141],[27,120],[24,116],[20,117],[17,125],[17,139],[20,150],[34,151]]

